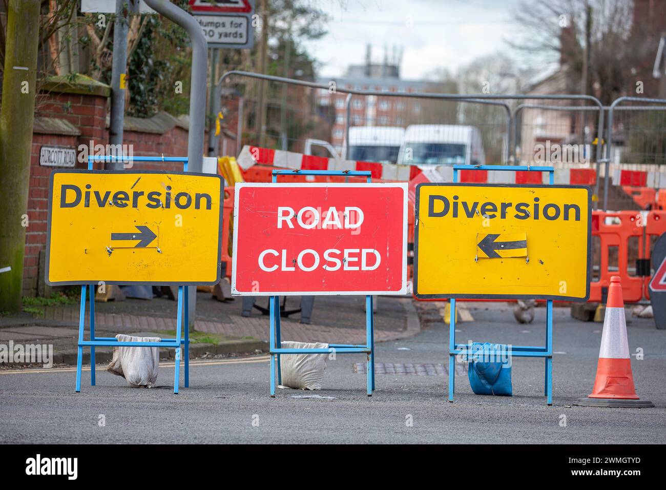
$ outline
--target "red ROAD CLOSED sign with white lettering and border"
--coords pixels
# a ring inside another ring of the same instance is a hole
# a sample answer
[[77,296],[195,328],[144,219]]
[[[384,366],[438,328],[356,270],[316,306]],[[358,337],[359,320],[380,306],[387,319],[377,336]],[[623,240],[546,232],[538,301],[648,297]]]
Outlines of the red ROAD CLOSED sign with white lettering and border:
[[407,293],[407,183],[238,183],[234,295]]

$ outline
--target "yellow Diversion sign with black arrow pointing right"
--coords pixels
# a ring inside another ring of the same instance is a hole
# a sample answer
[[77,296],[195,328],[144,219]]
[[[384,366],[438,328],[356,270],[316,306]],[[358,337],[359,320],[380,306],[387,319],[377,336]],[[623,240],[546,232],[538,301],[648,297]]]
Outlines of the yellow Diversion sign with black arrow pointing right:
[[47,283],[216,283],[222,190],[203,173],[53,172]]

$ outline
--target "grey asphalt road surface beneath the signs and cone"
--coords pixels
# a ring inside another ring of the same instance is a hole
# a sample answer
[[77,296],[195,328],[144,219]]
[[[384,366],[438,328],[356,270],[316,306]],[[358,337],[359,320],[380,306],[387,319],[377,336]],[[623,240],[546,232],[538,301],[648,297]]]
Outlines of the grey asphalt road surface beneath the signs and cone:
[[[472,310],[475,321],[460,323],[456,340],[543,345],[544,313],[517,325],[507,309]],[[165,363],[155,389],[132,389],[98,366],[97,386],[84,371],[81,393],[73,369],[3,371],[0,443],[665,443],[666,331],[633,319],[628,332],[629,351],[641,347],[645,357],[632,358],[638,394],[655,408],[571,406],[591,391],[601,324],[556,309],[551,407],[543,359],[513,359],[513,397],[472,394],[460,365],[454,403],[441,374],[378,374],[367,397],[366,376],[354,370],[363,355],[329,360],[321,391],[278,389],[273,399],[266,355],[193,363],[179,395]],[[412,339],[377,344],[377,362],[448,366],[447,343],[448,327],[431,323]]]

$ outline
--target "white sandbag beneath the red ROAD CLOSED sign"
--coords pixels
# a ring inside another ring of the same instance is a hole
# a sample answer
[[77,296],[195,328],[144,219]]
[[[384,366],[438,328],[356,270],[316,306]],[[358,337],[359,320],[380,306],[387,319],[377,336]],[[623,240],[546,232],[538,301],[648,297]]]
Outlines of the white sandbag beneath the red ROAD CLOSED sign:
[[[282,349],[328,349],[328,344],[319,342],[282,342]],[[296,389],[321,389],[324,381],[328,354],[283,354],[280,355],[282,387]]]

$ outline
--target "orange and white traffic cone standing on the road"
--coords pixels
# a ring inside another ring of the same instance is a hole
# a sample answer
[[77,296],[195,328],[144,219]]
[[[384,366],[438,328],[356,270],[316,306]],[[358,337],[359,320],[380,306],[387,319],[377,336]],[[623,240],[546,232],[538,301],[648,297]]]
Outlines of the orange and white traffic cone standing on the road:
[[592,394],[587,398],[579,398],[574,405],[635,408],[655,406],[651,401],[639,400],[633,385],[622,286],[616,275],[611,277],[608,288],[597,378]]

